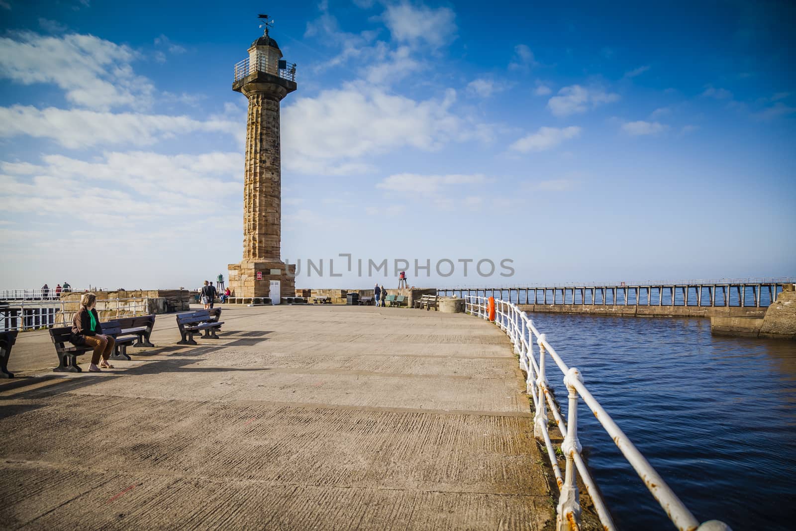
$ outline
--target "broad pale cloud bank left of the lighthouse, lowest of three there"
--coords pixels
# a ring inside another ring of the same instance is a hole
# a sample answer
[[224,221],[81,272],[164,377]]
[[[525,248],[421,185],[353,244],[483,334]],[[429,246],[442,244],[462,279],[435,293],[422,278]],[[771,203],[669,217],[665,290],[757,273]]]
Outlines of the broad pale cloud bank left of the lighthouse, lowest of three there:
[[240,193],[243,169],[239,153],[47,155],[41,165],[0,162],[0,188],[6,211],[88,219],[98,214],[85,205],[107,205],[100,216],[110,225],[213,212],[221,197]]

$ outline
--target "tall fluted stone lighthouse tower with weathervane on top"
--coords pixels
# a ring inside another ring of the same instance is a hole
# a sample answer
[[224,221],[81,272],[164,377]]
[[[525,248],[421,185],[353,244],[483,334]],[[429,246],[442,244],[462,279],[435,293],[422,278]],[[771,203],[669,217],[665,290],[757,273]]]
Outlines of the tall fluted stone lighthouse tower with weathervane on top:
[[235,65],[232,90],[248,98],[244,169],[244,256],[229,264],[229,287],[236,297],[268,297],[271,280],[283,297],[295,295],[295,266],[283,263],[281,243],[282,176],[279,153],[279,102],[295,91],[295,64],[283,61],[276,41],[265,33],[252,42],[248,59]]

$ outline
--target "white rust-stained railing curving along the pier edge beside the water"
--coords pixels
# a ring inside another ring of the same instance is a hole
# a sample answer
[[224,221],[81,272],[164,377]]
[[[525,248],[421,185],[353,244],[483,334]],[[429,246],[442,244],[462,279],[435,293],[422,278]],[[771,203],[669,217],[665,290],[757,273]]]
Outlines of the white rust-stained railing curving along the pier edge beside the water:
[[[486,297],[468,295],[465,303],[466,313],[490,319],[489,302],[490,299]],[[591,478],[591,474],[580,454],[581,446],[578,439],[579,398],[583,398],[583,401],[591,408],[591,412],[595,414],[595,417],[603,425],[608,435],[611,435],[611,438],[614,439],[619,451],[622,452],[630,466],[642,478],[647,489],[650,490],[657,502],[661,504],[661,507],[673,524],[677,526],[677,529],[681,529],[681,531],[728,531],[730,529],[728,525],[716,520],[705,521],[700,525],[699,521],[680,501],[680,498],[677,498],[677,494],[674,494],[669,486],[666,485],[663,478],[657,474],[652,465],[630,442],[627,435],[611,419],[611,416],[603,409],[597,399],[595,399],[595,396],[591,394],[583,382],[580,371],[564,363],[558,353],[556,353],[556,349],[548,342],[546,335],[541,334],[536,326],[533,326],[533,321],[528,318],[528,314],[520,311],[514,303],[494,299],[494,323],[500,326],[501,330],[505,331],[509,336],[514,346],[514,353],[517,353],[520,357],[520,368],[528,375],[525,381],[525,390],[533,397],[535,411],[533,435],[537,439],[544,441],[550,465],[556,475],[556,483],[560,490],[556,507],[557,531],[576,531],[579,529],[580,502],[576,474],[580,474],[580,478],[583,479],[583,484],[591,496],[603,528],[607,530],[616,529],[614,521],[611,519],[611,514],[608,513],[605,502],[603,502],[603,498],[599,490],[597,490],[595,482]],[[534,339],[539,350],[538,361],[533,353]],[[546,367],[548,353],[561,373],[564,374],[564,385],[567,386],[569,392],[566,421],[561,416],[548,386]],[[550,441],[548,406],[561,431],[561,435],[564,436],[564,442],[561,443],[560,447],[566,458],[563,478],[556,459],[556,451]]]

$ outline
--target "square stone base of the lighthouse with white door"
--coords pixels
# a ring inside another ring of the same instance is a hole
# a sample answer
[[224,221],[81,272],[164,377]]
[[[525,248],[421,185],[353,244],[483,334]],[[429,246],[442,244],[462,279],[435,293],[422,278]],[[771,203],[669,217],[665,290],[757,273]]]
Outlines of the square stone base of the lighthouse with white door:
[[229,264],[228,270],[232,297],[270,297],[271,280],[279,280],[283,298],[295,296],[295,265],[244,260],[239,264]]

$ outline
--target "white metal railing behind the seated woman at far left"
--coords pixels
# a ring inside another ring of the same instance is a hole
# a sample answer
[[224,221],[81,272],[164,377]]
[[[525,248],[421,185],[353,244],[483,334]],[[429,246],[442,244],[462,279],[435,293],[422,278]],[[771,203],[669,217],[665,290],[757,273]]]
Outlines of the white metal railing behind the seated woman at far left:
[[[68,306],[74,306],[68,308]],[[0,331],[9,330],[37,330],[53,326],[68,326],[72,321],[67,318],[76,310],[78,301],[64,300],[20,300],[0,306]],[[103,319],[118,319],[135,317],[149,313],[149,297],[134,297],[129,299],[97,299],[96,310],[108,312]]]

